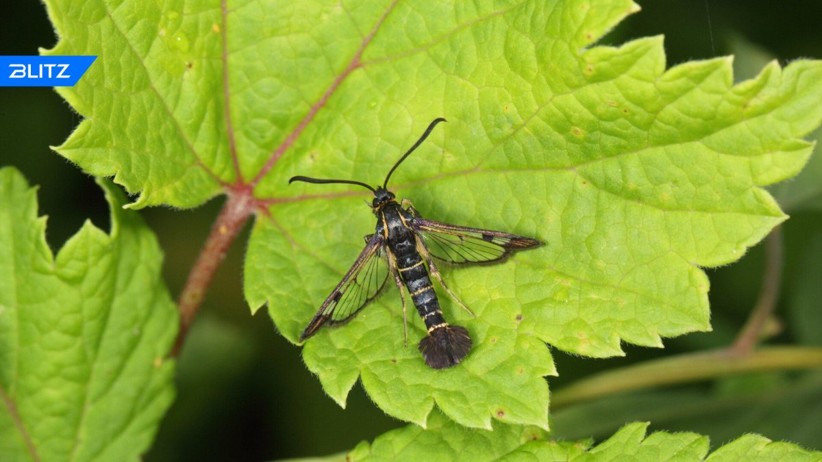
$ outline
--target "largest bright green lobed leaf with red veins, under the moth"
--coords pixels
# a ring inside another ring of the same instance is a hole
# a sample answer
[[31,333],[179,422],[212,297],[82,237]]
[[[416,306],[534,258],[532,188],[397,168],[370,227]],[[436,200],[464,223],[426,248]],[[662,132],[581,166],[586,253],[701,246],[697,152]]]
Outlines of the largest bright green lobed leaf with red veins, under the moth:
[[[800,138],[822,118],[819,62],[732,86],[728,58],[666,72],[658,37],[592,48],[637,10],[627,0],[48,5],[62,36],[49,53],[100,55],[62,90],[88,119],[60,152],[116,175],[137,206],[252,190],[246,297],[294,342],[374,218],[363,190],[286,180],[376,184],[428,122],[450,120],[395,192],[428,218],[546,245],[444,271],[478,314],[443,301],[474,339],[459,367],[432,371],[404,347],[393,288],[304,350],[340,404],[362,377],[382,409],[420,424],[436,402],[467,426],[545,427],[543,342],[605,357],[709,329],[700,266],[785,219],[760,186],[801,169]],[[418,319],[409,334],[424,334]]]

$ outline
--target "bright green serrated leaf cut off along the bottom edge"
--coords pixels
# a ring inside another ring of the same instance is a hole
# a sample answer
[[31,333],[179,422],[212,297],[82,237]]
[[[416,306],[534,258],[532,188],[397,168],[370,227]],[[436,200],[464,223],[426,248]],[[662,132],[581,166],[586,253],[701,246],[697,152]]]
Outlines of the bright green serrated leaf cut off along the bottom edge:
[[[361,442],[349,460],[820,460],[822,453],[797,445],[745,435],[708,454],[708,437],[653,432],[648,423],[629,423],[606,441],[550,441],[536,427],[496,423],[493,432],[469,429],[433,413],[431,427],[409,425]],[[707,458],[706,458],[707,456]]]

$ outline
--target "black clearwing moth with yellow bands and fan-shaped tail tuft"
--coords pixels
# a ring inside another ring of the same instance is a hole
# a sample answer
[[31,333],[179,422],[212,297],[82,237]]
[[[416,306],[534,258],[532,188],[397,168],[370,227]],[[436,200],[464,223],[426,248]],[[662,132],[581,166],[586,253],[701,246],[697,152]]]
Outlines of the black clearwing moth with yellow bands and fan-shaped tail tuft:
[[496,263],[504,261],[513,252],[541,244],[536,239],[516,234],[423,219],[411,201],[396,201],[394,193],[387,189],[391,173],[425,141],[439,122],[446,122],[446,119],[436,118],[428,125],[423,136],[391,167],[382,187],[343,179],[302,176],[289,179],[289,183],[347,183],[365,187],[374,193],[371,207],[376,215],[375,233],[365,237],[363,252],[302,331],[301,341],[316,334],[322,326],[339,326],[350,321],[379,295],[390,275],[402,298],[405,344],[408,344],[408,320],[404,290],[408,290],[427,328],[427,335],[418,345],[425,363],[435,369],[454,366],[469,353],[471,337],[463,326],[450,325],[442,317],[429,275],[460,307],[472,316],[473,312],[448,289],[435,260],[458,265]]

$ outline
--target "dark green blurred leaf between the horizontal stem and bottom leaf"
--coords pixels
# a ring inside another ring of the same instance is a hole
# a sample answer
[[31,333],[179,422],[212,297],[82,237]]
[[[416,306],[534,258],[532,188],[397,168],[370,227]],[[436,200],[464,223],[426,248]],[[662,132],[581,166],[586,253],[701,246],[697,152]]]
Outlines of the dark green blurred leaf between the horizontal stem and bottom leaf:
[[[731,441],[755,432],[820,449],[822,374],[765,377],[778,380],[763,390],[744,393],[720,390],[725,381],[718,381],[704,390],[649,390],[552,409],[551,435],[603,438],[626,422],[649,420],[654,428],[699,432],[712,441]],[[737,377],[737,381],[752,385],[750,377]]]

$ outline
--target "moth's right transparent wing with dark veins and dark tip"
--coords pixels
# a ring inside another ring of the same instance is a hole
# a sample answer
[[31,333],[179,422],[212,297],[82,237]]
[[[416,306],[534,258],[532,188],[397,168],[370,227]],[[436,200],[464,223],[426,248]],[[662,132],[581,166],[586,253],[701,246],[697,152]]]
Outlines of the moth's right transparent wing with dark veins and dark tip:
[[414,219],[413,228],[423,235],[432,256],[456,264],[503,261],[518,250],[542,245],[536,239],[516,234],[466,228],[430,219]]

